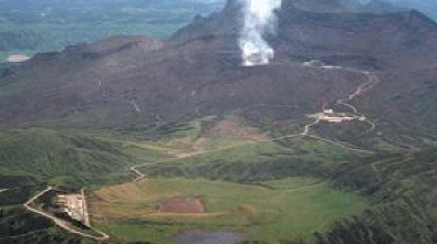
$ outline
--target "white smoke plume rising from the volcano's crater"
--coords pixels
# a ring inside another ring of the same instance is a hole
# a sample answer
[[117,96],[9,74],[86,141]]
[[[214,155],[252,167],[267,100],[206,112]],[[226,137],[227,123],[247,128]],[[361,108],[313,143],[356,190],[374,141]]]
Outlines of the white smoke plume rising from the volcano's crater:
[[268,64],[273,59],[273,49],[262,39],[267,31],[274,31],[274,9],[281,7],[281,0],[240,0],[244,15],[239,45],[244,66]]

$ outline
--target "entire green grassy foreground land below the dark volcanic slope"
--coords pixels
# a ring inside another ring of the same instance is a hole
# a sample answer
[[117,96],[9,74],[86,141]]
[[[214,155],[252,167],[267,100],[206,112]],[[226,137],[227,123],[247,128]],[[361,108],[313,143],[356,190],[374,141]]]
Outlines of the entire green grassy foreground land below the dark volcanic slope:
[[[93,205],[95,219],[92,220],[94,225],[111,233],[111,243],[166,243],[176,233],[197,227],[231,227],[252,240],[263,241],[298,236],[311,240],[314,231],[329,230],[329,238],[348,240],[341,234],[342,230],[347,233],[370,230],[376,240],[394,240],[402,234],[394,232],[395,226],[388,221],[396,211],[419,214],[420,221],[412,222],[414,231],[425,231],[424,238],[433,237],[427,224],[436,218],[428,209],[434,191],[427,187],[434,176],[433,148],[416,153],[384,149],[367,155],[314,138],[273,142],[253,127],[243,127],[243,121],[239,121],[240,126],[229,121],[199,121],[171,130],[176,132],[170,137],[154,140],[114,130],[3,129],[0,150],[3,174],[0,227],[7,230],[3,236],[22,233],[24,236],[19,240],[34,243],[81,242],[19,205],[35,190],[52,183],[95,190],[91,194],[93,202],[106,205],[97,209]],[[128,170],[133,165],[139,166],[137,169],[148,174],[148,180],[119,184],[134,178]],[[408,192],[408,197],[397,195],[399,192]],[[419,200],[420,192],[428,192],[429,198]],[[163,198],[180,194],[201,195],[208,213],[200,219],[149,215],[150,206]],[[366,206],[363,197],[375,204]],[[248,208],[243,208],[243,213],[237,214],[241,205],[256,211],[244,212]],[[344,219],[351,215],[358,218]],[[371,224],[370,220],[377,221]],[[11,221],[39,224],[37,227],[18,224],[12,230],[8,229]],[[396,224],[404,221],[407,219],[397,219]],[[405,240],[412,240],[408,236]],[[322,240],[319,242],[323,243]]]

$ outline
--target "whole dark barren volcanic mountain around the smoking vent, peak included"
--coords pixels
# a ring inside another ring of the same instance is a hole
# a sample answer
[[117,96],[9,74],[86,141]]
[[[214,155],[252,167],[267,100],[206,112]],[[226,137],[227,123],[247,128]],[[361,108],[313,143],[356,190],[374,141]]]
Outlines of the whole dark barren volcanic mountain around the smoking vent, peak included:
[[[351,68],[301,66],[315,59],[381,75],[381,84],[363,95],[367,113],[402,123],[414,114],[394,106],[416,104],[420,125],[429,125],[437,114],[428,106],[436,104],[428,75],[435,74],[437,61],[433,20],[418,11],[326,13],[295,7],[283,1],[277,34],[264,36],[275,52],[269,65],[241,66],[241,7],[233,0],[218,13],[196,17],[169,42],[115,36],[9,65],[0,77],[1,123],[137,127],[257,105],[288,107],[273,113],[275,120],[304,118],[366,78]],[[403,81],[419,75],[399,85],[400,71]]]

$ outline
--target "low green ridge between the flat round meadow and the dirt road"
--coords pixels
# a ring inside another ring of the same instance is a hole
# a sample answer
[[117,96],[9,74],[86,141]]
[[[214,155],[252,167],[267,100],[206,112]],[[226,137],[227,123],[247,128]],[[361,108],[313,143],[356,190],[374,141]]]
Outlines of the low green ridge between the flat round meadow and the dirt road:
[[[220,138],[212,139],[212,141],[218,140]],[[241,181],[241,177],[256,176],[263,170],[270,171],[268,174],[273,178],[301,176],[308,173],[310,166],[334,169],[344,162],[370,157],[313,138],[294,137],[281,144],[238,138],[233,141],[225,138],[225,141],[227,144],[217,142],[215,144],[218,145],[217,147],[200,151],[202,153],[194,151],[190,152],[190,157],[170,160],[166,165],[148,161],[149,163],[144,162],[138,169],[152,176],[200,176]],[[272,173],[270,167],[293,168],[293,170]]]

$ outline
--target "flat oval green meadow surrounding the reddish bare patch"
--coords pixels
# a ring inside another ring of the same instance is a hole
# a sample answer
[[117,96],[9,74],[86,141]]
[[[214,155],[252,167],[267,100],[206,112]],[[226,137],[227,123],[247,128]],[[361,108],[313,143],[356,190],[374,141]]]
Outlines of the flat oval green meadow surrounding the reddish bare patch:
[[[105,187],[94,193],[108,203],[100,206],[98,212],[111,221],[97,222],[97,226],[128,241],[155,243],[167,243],[166,237],[171,234],[196,227],[231,227],[249,233],[256,241],[308,240],[314,231],[323,232],[333,221],[360,214],[366,208],[365,200],[354,193],[313,182],[314,179],[308,178],[267,181],[268,184],[287,187],[269,190],[205,179],[156,178],[131,185]],[[208,213],[191,216],[147,214],[147,205],[171,195],[201,195]],[[139,223],[127,224],[126,219]],[[148,227],[142,226],[144,223]],[[163,227],[163,223],[174,224]]]

